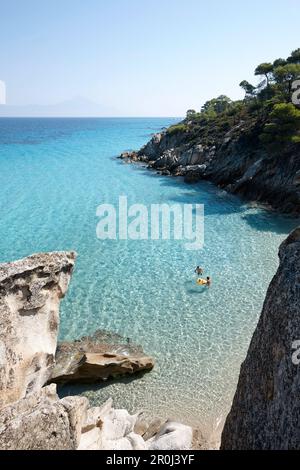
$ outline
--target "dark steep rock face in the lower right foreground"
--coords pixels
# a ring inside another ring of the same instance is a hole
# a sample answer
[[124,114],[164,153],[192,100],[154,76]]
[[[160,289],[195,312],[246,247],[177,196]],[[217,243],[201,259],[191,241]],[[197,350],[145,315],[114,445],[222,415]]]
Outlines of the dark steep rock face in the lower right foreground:
[[300,449],[300,228],[279,257],[224,427],[224,450]]

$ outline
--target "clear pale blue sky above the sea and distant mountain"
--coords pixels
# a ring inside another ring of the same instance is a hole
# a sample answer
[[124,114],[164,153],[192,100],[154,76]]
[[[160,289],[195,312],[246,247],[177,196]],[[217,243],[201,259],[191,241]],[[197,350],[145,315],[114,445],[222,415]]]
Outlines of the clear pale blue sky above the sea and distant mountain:
[[85,97],[123,116],[182,116],[242,96],[263,61],[300,47],[299,0],[1,0],[12,105]]

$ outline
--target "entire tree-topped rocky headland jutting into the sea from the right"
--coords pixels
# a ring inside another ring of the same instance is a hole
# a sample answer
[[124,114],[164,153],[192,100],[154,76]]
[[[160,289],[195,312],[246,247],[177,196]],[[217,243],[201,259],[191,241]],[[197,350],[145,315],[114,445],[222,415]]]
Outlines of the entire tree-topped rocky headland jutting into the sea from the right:
[[299,216],[300,109],[295,98],[300,49],[259,64],[254,75],[260,77],[257,86],[240,83],[243,100],[213,98],[121,158],[189,183],[208,180],[246,200]]

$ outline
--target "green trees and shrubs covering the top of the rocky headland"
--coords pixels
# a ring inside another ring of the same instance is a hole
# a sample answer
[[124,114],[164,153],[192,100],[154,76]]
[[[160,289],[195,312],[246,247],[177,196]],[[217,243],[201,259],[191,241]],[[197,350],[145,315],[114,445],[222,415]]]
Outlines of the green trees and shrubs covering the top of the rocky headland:
[[170,127],[168,134],[186,133],[189,139],[201,137],[204,145],[216,145],[242,122],[243,137],[258,140],[267,151],[300,144],[300,110],[292,104],[292,84],[300,77],[300,48],[287,59],[258,65],[254,73],[261,78],[257,86],[246,80],[240,83],[244,100],[221,95],[207,101],[200,112],[189,110],[186,119]]

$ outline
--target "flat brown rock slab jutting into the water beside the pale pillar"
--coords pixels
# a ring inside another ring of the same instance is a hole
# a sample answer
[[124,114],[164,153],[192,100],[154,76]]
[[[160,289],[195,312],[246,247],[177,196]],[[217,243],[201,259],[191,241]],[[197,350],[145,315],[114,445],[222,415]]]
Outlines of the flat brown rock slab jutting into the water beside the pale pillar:
[[130,344],[109,344],[106,338],[98,331],[79,341],[60,343],[51,381],[93,383],[153,369],[154,360],[141,348]]

